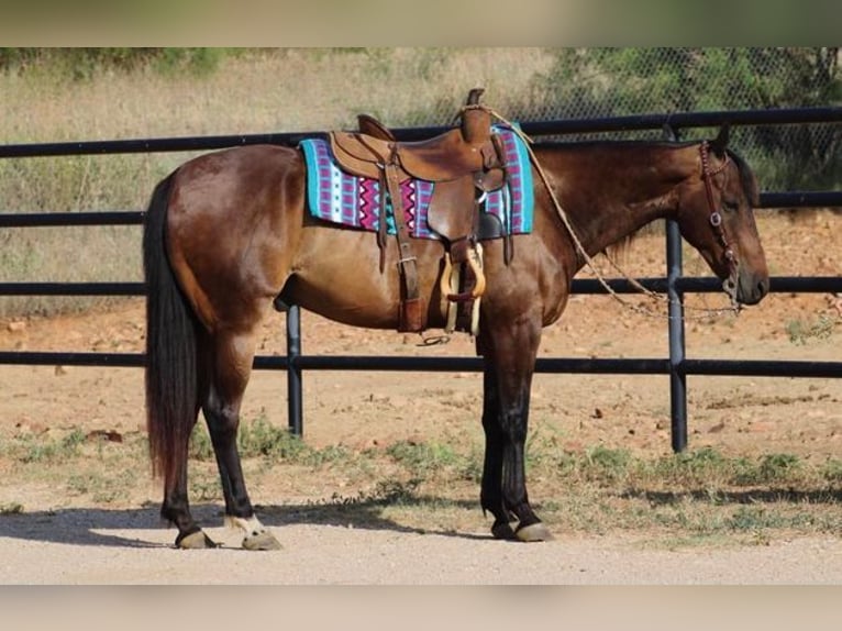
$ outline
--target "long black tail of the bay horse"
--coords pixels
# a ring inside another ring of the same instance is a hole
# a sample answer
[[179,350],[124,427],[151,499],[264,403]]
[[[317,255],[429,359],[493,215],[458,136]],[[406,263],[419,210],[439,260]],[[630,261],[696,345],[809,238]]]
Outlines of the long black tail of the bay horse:
[[146,428],[154,475],[175,481],[198,414],[197,320],[166,253],[171,176],[152,195],[143,232],[146,280]]

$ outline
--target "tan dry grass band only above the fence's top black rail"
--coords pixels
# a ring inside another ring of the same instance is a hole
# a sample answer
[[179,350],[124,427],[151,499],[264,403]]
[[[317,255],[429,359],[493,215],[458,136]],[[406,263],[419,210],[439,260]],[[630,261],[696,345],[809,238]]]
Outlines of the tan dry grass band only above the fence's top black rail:
[[0,130],[8,142],[309,131],[359,111],[444,123],[476,86],[507,108],[550,60],[539,48],[291,48],[226,57],[208,76],[4,74]]

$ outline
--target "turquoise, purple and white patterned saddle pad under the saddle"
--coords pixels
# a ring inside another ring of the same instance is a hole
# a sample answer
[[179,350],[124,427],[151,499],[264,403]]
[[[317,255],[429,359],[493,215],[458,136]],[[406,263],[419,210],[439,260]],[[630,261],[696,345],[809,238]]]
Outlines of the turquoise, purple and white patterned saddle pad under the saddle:
[[[495,125],[506,154],[507,184],[487,193],[485,212],[500,220],[503,234],[532,231],[532,169],[523,140],[510,129]],[[317,219],[363,230],[377,231],[380,213],[380,182],[342,171],[321,139],[304,140],[299,145],[307,163],[307,200]],[[440,239],[426,223],[426,211],[434,184],[407,179],[400,184],[409,233],[416,239]],[[386,226],[395,234],[391,203],[386,200]]]

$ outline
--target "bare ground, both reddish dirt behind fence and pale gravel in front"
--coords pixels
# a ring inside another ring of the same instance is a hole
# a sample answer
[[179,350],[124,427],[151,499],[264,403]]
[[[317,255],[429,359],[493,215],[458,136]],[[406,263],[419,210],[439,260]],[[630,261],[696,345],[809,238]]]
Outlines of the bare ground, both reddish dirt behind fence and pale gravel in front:
[[[761,212],[758,224],[773,275],[840,274],[837,240],[842,234],[842,215],[801,211],[796,221],[795,213],[767,211]],[[621,263],[635,276],[661,274],[663,237],[641,236]],[[708,274],[695,253],[687,253],[685,270]],[[719,308],[725,306],[725,298],[690,296],[687,302]],[[687,356],[838,362],[840,322],[838,296],[773,294],[738,317],[688,320]],[[350,329],[311,313],[302,316],[302,331],[304,354],[473,355],[473,342],[464,334],[444,345],[423,345],[418,335]],[[0,322],[2,350],[139,352],[143,337],[141,300],[84,316]],[[285,351],[284,317],[273,314],[262,331],[258,353]],[[545,357],[664,357],[666,353],[664,319],[640,316],[608,297],[586,296],[573,297],[562,320],[544,332],[541,347]],[[690,376],[688,390],[690,447],[711,445],[727,454],[745,455],[790,453],[820,462],[842,457],[841,379]],[[0,432],[7,434],[74,427],[145,431],[140,369],[0,366]],[[314,446],[359,449],[446,439],[466,424],[479,435],[480,401],[480,377],[473,373],[309,372],[304,374],[304,438]],[[284,375],[256,372],[243,412],[286,424]],[[570,451],[601,444],[645,454],[669,453],[667,378],[536,375],[531,431],[552,432]],[[3,469],[0,503],[21,492],[10,467]],[[139,463],[139,475],[147,471],[146,463]],[[157,492],[149,489],[151,501],[158,501]],[[173,532],[155,529],[154,507],[110,514],[73,506],[55,489],[31,488],[26,496],[26,516],[0,516],[7,520],[0,531],[0,583],[842,580],[839,538],[698,555],[630,550],[622,538],[583,541],[562,535],[543,549],[502,544],[502,552],[490,555],[488,546],[500,544],[486,539],[485,522],[463,538],[285,525],[282,562],[253,562],[253,556],[233,550],[184,554],[175,561],[168,550]],[[10,525],[11,519],[19,521]],[[224,541],[235,535],[219,536]]]

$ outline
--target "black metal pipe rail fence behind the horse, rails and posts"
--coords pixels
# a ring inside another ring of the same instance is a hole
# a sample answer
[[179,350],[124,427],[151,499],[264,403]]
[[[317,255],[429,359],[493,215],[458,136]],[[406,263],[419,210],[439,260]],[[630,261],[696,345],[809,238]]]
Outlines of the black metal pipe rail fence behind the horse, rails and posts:
[[[682,129],[731,125],[785,125],[810,123],[842,123],[842,108],[810,108],[795,110],[723,111],[700,113],[646,114],[590,120],[557,120],[523,123],[531,136],[558,136],[570,133],[598,133],[629,130],[663,129],[674,133]],[[418,140],[444,131],[444,128],[412,128],[396,130],[401,140]],[[242,136],[175,137],[84,143],[0,145],[0,158],[64,156],[118,153],[210,151],[248,144],[296,145],[313,133],[253,134]],[[766,191],[761,195],[761,208],[826,208],[842,207],[842,191]],[[70,225],[140,225],[144,213],[139,211],[78,213],[5,213],[0,214],[0,228],[70,226]],[[538,373],[589,373],[668,375],[672,419],[672,446],[678,452],[687,446],[687,375],[731,375],[756,377],[842,377],[842,362],[693,359],[686,357],[685,331],[682,318],[684,295],[718,292],[716,278],[682,276],[682,237],[675,222],[667,222],[664,277],[644,278],[645,287],[665,292],[671,301],[667,320],[669,353],[657,358],[539,358]],[[625,279],[610,279],[618,294],[636,290]],[[773,292],[842,292],[842,276],[773,277]],[[590,279],[576,279],[576,294],[606,294]],[[142,296],[142,283],[0,283],[0,296]],[[0,351],[0,364],[76,365],[141,367],[144,356],[137,353],[86,352],[13,352]],[[287,355],[257,356],[256,369],[287,372],[289,428],[303,433],[304,370],[405,370],[405,372],[478,372],[479,357],[401,357],[401,356],[309,356],[301,353],[300,313],[292,306],[287,313]]]

